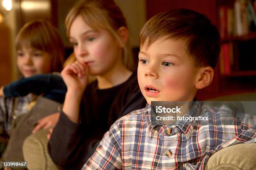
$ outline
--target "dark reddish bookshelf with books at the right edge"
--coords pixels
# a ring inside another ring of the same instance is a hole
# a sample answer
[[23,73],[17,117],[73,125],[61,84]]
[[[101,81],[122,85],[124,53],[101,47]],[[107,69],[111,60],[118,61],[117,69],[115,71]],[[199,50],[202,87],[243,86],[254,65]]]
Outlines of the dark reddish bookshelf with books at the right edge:
[[217,0],[219,94],[256,91],[256,0]]

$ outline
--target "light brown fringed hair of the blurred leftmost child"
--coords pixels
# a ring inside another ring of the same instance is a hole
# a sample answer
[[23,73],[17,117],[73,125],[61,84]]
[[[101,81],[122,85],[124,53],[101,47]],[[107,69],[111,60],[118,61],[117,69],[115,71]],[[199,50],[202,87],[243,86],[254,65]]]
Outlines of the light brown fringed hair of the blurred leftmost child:
[[61,72],[64,63],[64,44],[57,28],[46,20],[26,23],[15,39],[16,51],[35,48],[51,57],[51,72]]

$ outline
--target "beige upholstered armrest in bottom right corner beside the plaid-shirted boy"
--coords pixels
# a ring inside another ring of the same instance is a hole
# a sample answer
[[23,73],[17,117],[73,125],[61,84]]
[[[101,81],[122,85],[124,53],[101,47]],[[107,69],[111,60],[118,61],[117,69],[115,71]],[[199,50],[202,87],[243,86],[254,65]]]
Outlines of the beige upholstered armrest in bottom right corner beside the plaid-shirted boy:
[[219,150],[205,170],[256,170],[256,143],[242,143]]

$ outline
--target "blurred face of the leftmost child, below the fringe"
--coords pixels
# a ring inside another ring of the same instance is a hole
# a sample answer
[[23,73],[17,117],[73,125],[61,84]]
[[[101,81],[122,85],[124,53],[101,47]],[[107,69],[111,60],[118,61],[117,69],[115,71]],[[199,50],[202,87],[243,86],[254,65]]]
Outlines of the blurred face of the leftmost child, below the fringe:
[[48,53],[35,48],[17,51],[17,66],[24,77],[51,72],[51,58]]

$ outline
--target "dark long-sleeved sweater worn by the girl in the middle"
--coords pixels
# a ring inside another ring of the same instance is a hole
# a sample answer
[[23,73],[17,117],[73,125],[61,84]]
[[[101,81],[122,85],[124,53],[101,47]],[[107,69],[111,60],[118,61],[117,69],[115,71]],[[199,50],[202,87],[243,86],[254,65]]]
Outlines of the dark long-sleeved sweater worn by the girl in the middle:
[[80,105],[80,123],[61,112],[48,144],[52,160],[65,169],[80,170],[95,151],[111,124],[129,112],[146,106],[133,75],[123,84],[97,89],[97,81],[85,89]]

